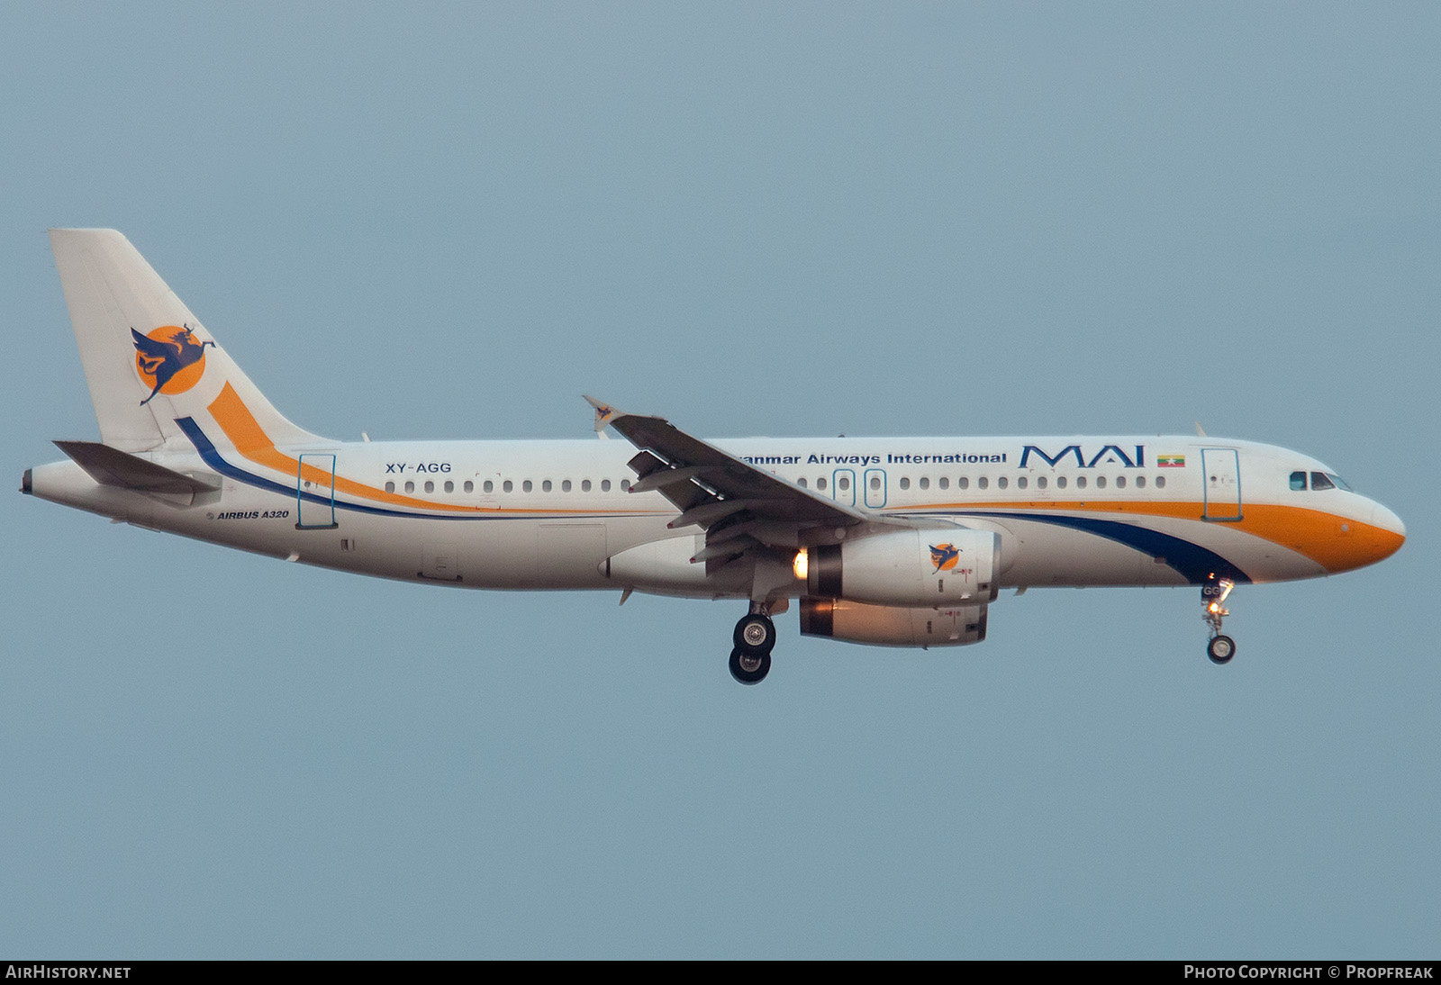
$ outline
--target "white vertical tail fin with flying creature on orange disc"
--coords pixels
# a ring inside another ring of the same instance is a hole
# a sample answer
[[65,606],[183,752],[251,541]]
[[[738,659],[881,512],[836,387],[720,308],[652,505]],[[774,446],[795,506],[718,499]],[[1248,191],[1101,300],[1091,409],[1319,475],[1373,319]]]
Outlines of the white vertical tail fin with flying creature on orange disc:
[[[122,235],[52,229],[50,248],[107,445],[189,445],[186,419],[219,422],[205,426],[215,444],[235,444],[236,429],[275,444],[320,441],[265,399]],[[218,409],[244,426],[226,428]]]

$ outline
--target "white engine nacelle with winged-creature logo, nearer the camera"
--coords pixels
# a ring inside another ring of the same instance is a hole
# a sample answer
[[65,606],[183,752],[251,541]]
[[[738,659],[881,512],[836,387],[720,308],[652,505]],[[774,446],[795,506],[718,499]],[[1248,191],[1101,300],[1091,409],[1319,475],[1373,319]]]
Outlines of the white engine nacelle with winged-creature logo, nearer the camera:
[[883,606],[984,603],[1000,585],[1000,539],[990,530],[898,530],[807,552],[816,598]]

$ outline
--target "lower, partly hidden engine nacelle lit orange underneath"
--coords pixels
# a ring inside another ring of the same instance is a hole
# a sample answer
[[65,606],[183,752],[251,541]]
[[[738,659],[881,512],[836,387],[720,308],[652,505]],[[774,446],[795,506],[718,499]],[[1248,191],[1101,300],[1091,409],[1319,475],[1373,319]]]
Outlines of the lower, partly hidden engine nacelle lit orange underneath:
[[986,638],[986,603],[902,609],[844,599],[801,599],[801,634],[872,647],[964,647]]

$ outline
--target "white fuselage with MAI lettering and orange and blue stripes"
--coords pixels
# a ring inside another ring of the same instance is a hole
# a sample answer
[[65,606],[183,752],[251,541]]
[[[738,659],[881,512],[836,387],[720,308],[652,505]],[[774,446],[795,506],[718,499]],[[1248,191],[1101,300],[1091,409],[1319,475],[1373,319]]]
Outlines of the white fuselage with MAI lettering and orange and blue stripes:
[[[199,433],[199,432],[197,432]],[[195,436],[193,436],[195,438]],[[101,485],[72,462],[33,469],[40,498],[231,547],[382,577],[496,589],[731,596],[689,557],[697,527],[659,492],[628,491],[620,441],[363,442],[150,456],[215,475],[187,497]],[[713,442],[820,495],[878,516],[1000,534],[1006,586],[1196,585],[1314,577],[1372,563],[1399,520],[1271,445],[1209,438],[741,438]],[[333,462],[333,465],[331,465]],[[287,471],[288,469],[288,471]],[[297,474],[301,477],[297,484]],[[330,477],[333,474],[333,482]],[[298,488],[297,488],[298,485]],[[333,488],[331,488],[333,485]],[[651,576],[607,559],[659,540]],[[790,595],[803,595],[797,580]]]

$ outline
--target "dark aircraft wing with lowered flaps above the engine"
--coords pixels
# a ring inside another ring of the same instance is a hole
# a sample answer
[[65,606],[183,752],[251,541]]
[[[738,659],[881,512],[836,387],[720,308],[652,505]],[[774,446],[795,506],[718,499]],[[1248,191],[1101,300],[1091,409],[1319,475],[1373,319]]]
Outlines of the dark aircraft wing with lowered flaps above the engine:
[[695,524],[706,531],[706,550],[696,556],[697,562],[729,560],[749,541],[794,547],[804,527],[909,526],[801,488],[687,435],[664,418],[624,413],[595,397],[585,399],[595,408],[597,431],[614,428],[640,449],[630,459],[640,477],[631,492],[654,490],[670,500],[680,510],[672,529]]

